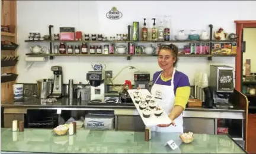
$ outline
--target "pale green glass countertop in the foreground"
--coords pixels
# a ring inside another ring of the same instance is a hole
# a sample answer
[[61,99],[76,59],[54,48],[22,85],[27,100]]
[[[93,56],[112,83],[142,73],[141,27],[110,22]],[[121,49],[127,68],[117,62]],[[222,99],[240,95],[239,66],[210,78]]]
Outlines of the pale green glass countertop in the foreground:
[[[52,129],[1,129],[1,153],[246,153],[227,135],[195,134],[191,143],[182,143],[179,135],[152,132],[145,142],[144,132],[78,129],[75,135],[57,136]],[[168,140],[179,147],[165,146]]]

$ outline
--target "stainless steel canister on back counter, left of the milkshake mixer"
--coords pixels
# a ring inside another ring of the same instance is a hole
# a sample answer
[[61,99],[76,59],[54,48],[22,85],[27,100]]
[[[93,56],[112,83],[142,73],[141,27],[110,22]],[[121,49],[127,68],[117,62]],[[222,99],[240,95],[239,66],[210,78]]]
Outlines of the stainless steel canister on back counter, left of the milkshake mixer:
[[48,99],[52,94],[52,79],[37,80],[37,98]]

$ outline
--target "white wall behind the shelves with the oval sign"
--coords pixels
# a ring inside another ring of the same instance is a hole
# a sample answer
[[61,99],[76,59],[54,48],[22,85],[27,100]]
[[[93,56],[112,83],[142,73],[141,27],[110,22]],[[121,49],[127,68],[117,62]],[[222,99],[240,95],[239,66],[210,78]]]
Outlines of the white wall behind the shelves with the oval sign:
[[[116,6],[123,13],[117,21],[107,19],[105,14],[111,7]],[[75,27],[85,33],[102,33],[111,35],[127,33],[127,25],[143,18],[158,18],[163,15],[170,16],[171,29],[177,34],[180,29],[209,30],[208,25],[213,24],[216,30],[222,27],[227,32],[235,32],[234,20],[255,19],[256,1],[17,1],[18,44],[18,82],[36,83],[41,78],[53,76],[50,67],[61,65],[63,67],[64,83],[73,78],[75,83],[87,83],[86,73],[91,70],[91,63],[101,62],[107,65],[107,70],[117,74],[121,68],[133,65],[140,70],[148,70],[151,75],[158,71],[156,57],[134,57],[127,61],[125,57],[56,57],[46,63],[35,63],[26,68],[25,53],[29,53],[29,46],[25,43],[29,32],[48,34],[48,25],[54,25],[53,31],[59,33],[59,27]],[[40,45],[49,45],[41,43]],[[58,45],[58,44],[57,44]],[[234,57],[213,57],[207,61],[206,57],[180,57],[178,70],[190,77],[194,84],[194,74],[197,71],[209,73],[209,64],[225,63],[235,66]],[[114,80],[121,84],[124,80],[133,80],[132,71],[127,69]]]

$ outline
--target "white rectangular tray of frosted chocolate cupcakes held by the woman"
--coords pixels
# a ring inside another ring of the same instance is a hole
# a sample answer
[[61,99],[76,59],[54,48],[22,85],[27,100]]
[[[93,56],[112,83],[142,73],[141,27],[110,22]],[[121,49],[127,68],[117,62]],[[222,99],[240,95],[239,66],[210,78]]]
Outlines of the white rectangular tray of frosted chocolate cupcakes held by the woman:
[[159,106],[158,100],[148,90],[129,89],[128,93],[146,126],[171,123],[167,113]]

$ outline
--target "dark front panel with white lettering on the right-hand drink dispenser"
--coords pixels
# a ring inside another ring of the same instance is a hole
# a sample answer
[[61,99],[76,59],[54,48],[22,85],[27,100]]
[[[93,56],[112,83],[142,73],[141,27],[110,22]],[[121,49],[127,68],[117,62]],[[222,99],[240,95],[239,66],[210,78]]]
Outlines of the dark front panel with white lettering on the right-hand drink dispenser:
[[219,70],[218,90],[233,90],[233,71],[232,70]]

